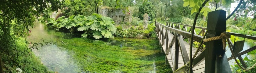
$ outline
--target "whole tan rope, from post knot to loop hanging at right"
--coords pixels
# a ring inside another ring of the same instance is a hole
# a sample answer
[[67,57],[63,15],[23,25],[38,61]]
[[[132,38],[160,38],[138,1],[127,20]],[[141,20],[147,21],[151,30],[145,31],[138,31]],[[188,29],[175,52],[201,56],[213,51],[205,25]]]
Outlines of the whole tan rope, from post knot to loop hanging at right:
[[[223,50],[225,50],[226,48],[226,39],[229,39],[230,38],[230,34],[229,33],[221,33],[220,36],[215,36],[215,37],[211,37],[211,38],[207,38],[207,39],[204,39],[204,42],[208,42],[208,41],[212,41],[212,40],[219,40],[219,39],[222,39],[222,44],[223,44]],[[229,48],[230,48],[230,51],[231,51],[231,54],[232,54],[232,57],[234,58],[234,60],[236,61],[236,64],[243,70],[245,71],[248,71],[248,70],[251,70],[252,68],[255,67],[256,63],[250,67],[250,68],[243,68],[239,63],[238,61],[236,60],[236,56],[232,50],[232,47],[231,47],[231,44],[230,44],[230,41],[228,40],[228,44],[229,44]]]

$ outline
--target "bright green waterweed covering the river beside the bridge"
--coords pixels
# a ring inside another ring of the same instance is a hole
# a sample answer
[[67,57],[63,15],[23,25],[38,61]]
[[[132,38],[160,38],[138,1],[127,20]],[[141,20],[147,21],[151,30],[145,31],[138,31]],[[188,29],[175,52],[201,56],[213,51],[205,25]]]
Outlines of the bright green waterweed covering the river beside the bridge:
[[[153,39],[60,39],[58,46],[74,51],[82,72],[171,72],[161,46]],[[158,69],[157,69],[158,68]],[[161,70],[163,69],[163,70]]]

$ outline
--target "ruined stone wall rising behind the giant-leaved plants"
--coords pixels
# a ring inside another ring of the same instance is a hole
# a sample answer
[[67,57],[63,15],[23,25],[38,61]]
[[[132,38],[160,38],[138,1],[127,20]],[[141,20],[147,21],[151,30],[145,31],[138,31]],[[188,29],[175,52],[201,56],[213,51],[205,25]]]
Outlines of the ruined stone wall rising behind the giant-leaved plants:
[[99,14],[112,18],[115,24],[119,24],[120,22],[132,22],[131,11],[123,13],[122,9],[111,9],[105,7],[100,9]]

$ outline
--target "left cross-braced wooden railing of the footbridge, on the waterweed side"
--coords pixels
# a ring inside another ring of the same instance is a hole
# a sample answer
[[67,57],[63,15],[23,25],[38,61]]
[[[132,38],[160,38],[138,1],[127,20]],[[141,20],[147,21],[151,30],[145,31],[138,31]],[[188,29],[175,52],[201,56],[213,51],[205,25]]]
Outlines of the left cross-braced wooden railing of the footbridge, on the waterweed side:
[[[173,71],[178,69],[179,47],[180,47],[180,51],[182,54],[183,63],[186,64],[186,62],[189,61],[189,56],[188,56],[185,44],[183,42],[182,36],[189,38],[191,36],[191,33],[179,30],[180,29],[179,25],[180,24],[175,25],[175,28],[173,28],[174,27],[173,25],[171,25],[171,27],[169,27],[169,25],[165,26],[161,23],[155,22],[157,36],[160,37],[159,40],[161,40],[160,41],[162,43],[161,45],[165,46],[166,55],[168,55],[169,53],[171,54],[172,67],[174,69]],[[176,29],[176,28],[178,28],[178,29]],[[186,26],[184,29],[186,29]],[[173,38],[170,38],[171,34],[174,34]],[[202,38],[203,38],[203,36],[200,36],[197,34],[195,34],[193,36],[193,39],[197,42],[200,42],[202,40]],[[175,52],[171,48],[174,45],[174,43],[175,43]],[[173,53],[175,53],[175,54],[173,54]],[[193,66],[196,66],[197,64],[199,64],[200,62],[202,62],[204,60],[204,54],[203,55],[201,55],[201,54],[197,58],[195,58],[195,60],[192,63]],[[186,69],[188,69],[188,68],[186,68]],[[184,68],[184,71],[185,71],[185,68]]]

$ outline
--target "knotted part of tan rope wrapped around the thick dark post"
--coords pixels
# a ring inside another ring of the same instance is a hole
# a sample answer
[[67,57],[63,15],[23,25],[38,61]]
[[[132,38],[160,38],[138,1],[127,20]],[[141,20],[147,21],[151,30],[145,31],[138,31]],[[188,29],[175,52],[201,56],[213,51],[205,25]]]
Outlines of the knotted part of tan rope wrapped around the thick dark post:
[[223,50],[226,48],[226,39],[229,39],[231,36],[228,33],[221,33],[220,36],[215,36],[211,38],[204,39],[204,42],[212,41],[212,40],[219,40],[222,39],[222,44],[223,44]]

